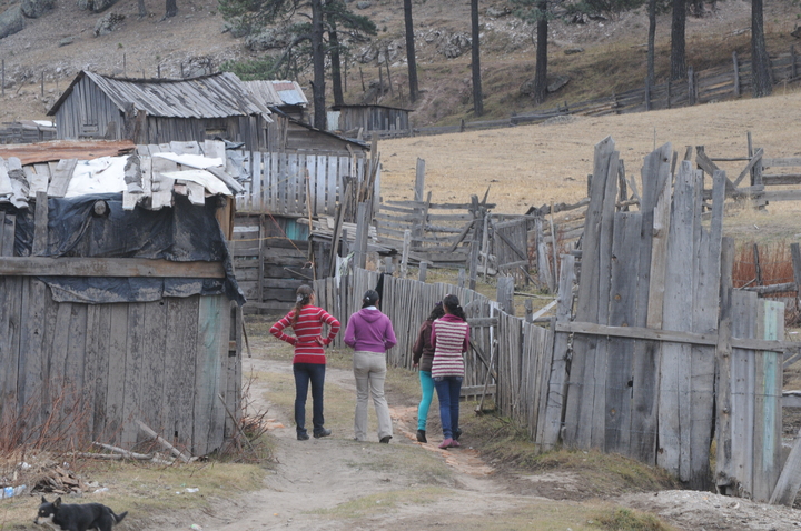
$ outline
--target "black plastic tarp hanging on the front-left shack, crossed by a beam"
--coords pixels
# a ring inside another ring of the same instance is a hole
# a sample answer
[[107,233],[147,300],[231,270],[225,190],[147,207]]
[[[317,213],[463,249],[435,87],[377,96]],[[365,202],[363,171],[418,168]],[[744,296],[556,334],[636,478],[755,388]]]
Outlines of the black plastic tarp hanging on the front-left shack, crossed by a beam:
[[[221,198],[207,198],[206,204],[192,204],[175,196],[171,208],[122,209],[121,193],[81,196],[48,200],[48,244],[44,257],[147,258],[174,262],[222,262],[225,279],[120,278],[120,277],[39,277],[58,302],[110,303],[148,302],[165,297],[211,295],[225,293],[240,305],[245,295],[234,278],[234,264],[226,239],[215,218]],[[95,204],[106,203],[98,216]],[[0,209],[17,214],[14,254],[31,256],[33,243],[32,210]]]

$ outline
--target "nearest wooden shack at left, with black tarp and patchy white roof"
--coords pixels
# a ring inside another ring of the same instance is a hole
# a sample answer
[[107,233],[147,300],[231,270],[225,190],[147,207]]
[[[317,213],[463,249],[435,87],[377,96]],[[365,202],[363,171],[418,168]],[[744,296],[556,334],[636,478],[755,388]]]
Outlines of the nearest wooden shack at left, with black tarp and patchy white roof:
[[[241,411],[233,190],[175,162],[191,146],[156,157],[109,143],[122,154],[0,159],[0,189],[14,182],[0,194],[0,429],[20,443],[131,449],[150,440],[141,422],[205,455],[235,437]],[[81,179],[111,188],[81,193]]]

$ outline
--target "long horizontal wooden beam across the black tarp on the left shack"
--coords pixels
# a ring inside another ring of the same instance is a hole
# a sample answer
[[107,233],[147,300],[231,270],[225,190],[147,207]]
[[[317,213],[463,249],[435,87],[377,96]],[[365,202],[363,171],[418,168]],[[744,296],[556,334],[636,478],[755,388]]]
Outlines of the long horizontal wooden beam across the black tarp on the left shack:
[[147,258],[0,258],[6,277],[181,277],[225,278],[221,262],[171,262]]

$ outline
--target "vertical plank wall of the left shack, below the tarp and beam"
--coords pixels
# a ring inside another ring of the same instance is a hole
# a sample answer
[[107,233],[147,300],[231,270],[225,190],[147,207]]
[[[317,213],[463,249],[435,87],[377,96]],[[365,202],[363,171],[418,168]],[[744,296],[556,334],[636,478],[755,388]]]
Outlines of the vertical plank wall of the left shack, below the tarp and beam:
[[[235,429],[241,357],[224,295],[57,303],[32,277],[0,277],[0,421],[23,441],[73,437],[135,448],[140,419],[195,455]],[[49,421],[59,431],[41,432]],[[22,424],[18,424],[22,423]]]

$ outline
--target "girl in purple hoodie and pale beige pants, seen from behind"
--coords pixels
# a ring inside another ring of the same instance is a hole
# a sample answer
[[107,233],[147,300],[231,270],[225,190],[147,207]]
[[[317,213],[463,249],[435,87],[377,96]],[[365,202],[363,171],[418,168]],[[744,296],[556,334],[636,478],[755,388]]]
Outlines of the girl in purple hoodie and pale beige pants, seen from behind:
[[362,298],[362,310],[348,320],[345,329],[345,344],[354,349],[354,375],[356,377],[356,420],[354,431],[357,441],[367,440],[367,398],[378,418],[378,440],[388,443],[393,435],[389,405],[384,397],[386,379],[386,351],[397,340],[389,318],[377,308],[378,293],[367,290]]

